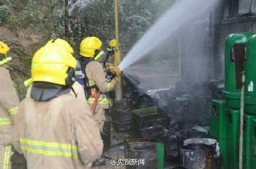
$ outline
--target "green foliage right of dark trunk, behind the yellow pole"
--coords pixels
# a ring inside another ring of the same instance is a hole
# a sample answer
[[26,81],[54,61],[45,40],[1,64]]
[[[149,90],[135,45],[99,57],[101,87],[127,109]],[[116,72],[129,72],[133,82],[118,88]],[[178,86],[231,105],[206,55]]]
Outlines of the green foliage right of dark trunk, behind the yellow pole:
[[[129,51],[173,2],[174,0],[120,0],[119,34],[122,51]],[[83,37],[97,36],[106,47],[108,42],[115,38],[113,1],[90,1],[74,20],[78,20],[74,26],[80,31],[72,33],[73,44],[79,44]]]

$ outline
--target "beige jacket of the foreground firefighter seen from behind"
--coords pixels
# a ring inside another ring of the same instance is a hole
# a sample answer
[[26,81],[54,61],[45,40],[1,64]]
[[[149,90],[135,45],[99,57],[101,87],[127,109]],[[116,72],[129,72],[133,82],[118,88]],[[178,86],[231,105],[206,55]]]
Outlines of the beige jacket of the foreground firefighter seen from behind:
[[103,143],[91,110],[69,92],[47,102],[30,96],[15,117],[15,149],[27,168],[87,168],[101,156]]

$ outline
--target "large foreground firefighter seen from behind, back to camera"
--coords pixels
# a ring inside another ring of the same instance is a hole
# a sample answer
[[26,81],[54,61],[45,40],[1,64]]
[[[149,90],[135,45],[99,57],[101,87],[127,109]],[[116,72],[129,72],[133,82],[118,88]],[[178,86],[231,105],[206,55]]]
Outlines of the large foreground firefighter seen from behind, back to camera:
[[103,143],[91,110],[71,94],[76,59],[57,45],[32,59],[30,96],[19,106],[14,146],[27,168],[87,168],[101,156]]

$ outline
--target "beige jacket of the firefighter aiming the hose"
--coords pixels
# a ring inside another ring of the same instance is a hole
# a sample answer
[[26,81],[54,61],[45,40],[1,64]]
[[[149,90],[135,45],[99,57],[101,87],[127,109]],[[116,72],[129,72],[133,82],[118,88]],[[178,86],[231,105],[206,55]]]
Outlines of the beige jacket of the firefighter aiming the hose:
[[[93,87],[97,85],[101,95],[98,99],[98,105],[102,109],[108,109],[111,106],[111,100],[109,100],[104,93],[111,91],[115,85],[111,82],[106,82],[105,73],[102,65],[97,61],[92,61],[86,66],[86,75],[89,80],[89,86]],[[88,98],[88,105],[93,105],[95,98]]]

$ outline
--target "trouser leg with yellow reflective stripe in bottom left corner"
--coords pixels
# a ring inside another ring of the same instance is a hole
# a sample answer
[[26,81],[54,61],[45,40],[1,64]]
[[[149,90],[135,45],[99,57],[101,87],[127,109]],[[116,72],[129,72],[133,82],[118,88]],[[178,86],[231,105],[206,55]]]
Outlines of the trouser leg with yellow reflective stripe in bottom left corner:
[[10,169],[11,145],[0,144],[0,168]]

